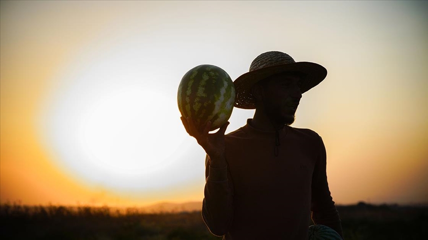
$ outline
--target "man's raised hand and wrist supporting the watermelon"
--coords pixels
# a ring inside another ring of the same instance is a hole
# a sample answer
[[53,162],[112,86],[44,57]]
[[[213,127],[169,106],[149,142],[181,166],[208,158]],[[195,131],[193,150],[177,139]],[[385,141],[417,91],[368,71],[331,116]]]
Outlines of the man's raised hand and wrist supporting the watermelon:
[[207,122],[203,130],[198,130],[195,123],[190,117],[181,117],[184,128],[190,136],[196,138],[198,144],[204,148],[207,155],[210,157],[213,167],[225,166],[224,158],[224,132],[226,131],[229,122],[226,122],[215,133],[209,133],[211,128],[211,121]]

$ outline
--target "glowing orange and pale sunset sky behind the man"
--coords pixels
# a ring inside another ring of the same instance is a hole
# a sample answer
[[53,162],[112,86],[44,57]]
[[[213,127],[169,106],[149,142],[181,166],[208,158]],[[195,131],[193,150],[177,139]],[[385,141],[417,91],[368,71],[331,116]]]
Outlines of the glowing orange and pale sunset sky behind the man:
[[[0,201],[203,198],[182,76],[235,80],[260,53],[323,65],[295,127],[327,149],[333,200],[428,201],[427,1],[1,1]],[[230,132],[254,111],[234,109]]]

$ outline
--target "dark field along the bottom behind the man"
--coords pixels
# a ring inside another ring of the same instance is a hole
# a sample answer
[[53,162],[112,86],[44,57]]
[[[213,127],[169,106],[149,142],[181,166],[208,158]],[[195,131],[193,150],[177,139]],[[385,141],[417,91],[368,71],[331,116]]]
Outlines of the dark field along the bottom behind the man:
[[[346,240],[427,239],[428,206],[337,206]],[[311,223],[308,223],[308,226]],[[0,239],[218,240],[199,211],[146,213],[135,208],[0,206]]]

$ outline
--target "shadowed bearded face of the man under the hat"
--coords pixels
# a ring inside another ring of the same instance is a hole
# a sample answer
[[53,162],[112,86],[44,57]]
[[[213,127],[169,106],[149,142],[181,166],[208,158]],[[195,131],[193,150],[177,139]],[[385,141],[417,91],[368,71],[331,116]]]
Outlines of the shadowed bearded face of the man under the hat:
[[263,84],[263,101],[269,118],[286,125],[294,122],[294,114],[302,93],[298,75],[277,74]]

